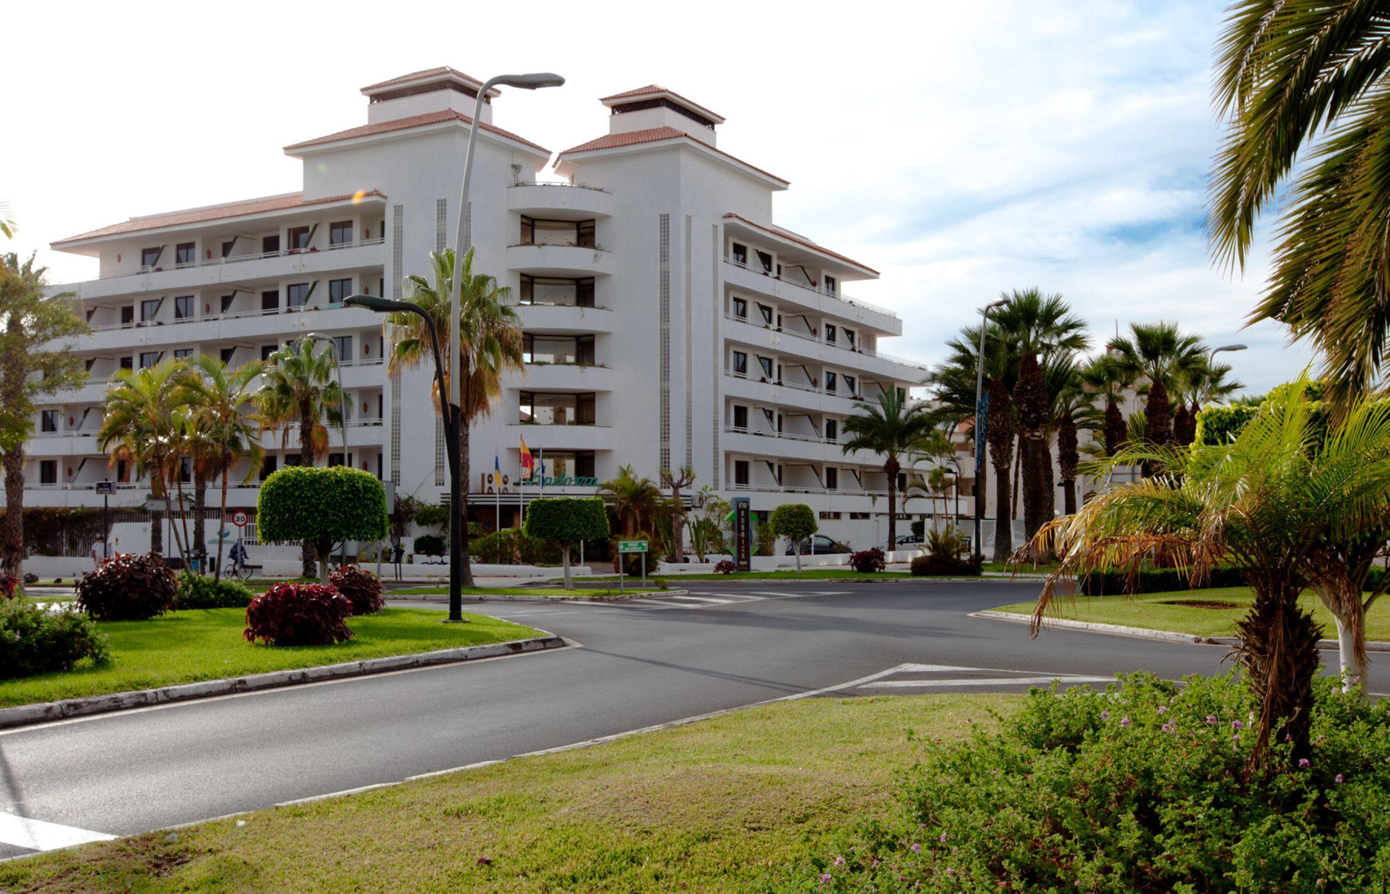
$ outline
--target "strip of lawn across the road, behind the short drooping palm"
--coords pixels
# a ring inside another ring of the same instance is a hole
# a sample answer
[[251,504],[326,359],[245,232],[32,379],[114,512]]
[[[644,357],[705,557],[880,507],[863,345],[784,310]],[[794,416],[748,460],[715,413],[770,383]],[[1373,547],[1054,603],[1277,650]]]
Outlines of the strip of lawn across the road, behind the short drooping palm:
[[[1138,596],[1076,596],[1054,602],[1054,617],[1095,621],[1101,624],[1125,624],[1150,630],[1172,630],[1201,637],[1233,637],[1236,620],[1245,613],[1251,594],[1248,587],[1215,587],[1211,590],[1175,590],[1151,592]],[[1173,605],[1176,602],[1215,602],[1216,608]],[[1323,626],[1323,635],[1337,637],[1337,627],[1318,596],[1305,592],[1300,602],[1312,610]],[[1036,602],[1001,605],[997,612],[1020,612],[1031,615]],[[1379,601],[1366,613],[1366,638],[1390,640],[1390,602]]]

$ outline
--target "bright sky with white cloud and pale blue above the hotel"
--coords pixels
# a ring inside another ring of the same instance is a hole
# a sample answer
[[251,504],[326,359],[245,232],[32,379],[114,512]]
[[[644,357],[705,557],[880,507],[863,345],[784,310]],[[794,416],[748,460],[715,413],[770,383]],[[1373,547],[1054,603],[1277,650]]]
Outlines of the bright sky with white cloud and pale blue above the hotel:
[[[1168,318],[1245,342],[1232,359],[1258,391],[1312,359],[1277,325],[1241,330],[1264,247],[1233,277],[1202,232],[1220,3],[862,1],[851,15],[532,3],[471,31],[471,7],[257,6],[93,4],[72,18],[22,4],[15,33],[64,38],[61,51],[29,40],[10,57],[22,76],[3,96],[28,122],[0,140],[0,195],[22,227],[11,247],[85,278],[90,261],[47,243],[297,189],[279,147],[361,122],[361,85],[436,64],[553,70],[564,88],[505,96],[496,122],[564,149],[606,131],[598,97],[652,82],[724,114],[721,149],[792,181],[777,222],[883,271],[845,291],[902,314],[892,353],[937,360],[974,307],[1037,285],[1102,336]],[[450,29],[459,39],[441,39]]]

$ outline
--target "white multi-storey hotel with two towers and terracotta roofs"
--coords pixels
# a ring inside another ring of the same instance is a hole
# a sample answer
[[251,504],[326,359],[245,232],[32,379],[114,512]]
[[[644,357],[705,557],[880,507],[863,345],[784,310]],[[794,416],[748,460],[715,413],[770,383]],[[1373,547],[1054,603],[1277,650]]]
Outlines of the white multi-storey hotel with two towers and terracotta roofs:
[[[53,243],[96,257],[96,279],[61,286],[90,325],[75,349],[90,381],[35,418],[26,505],[139,506],[147,487],[96,448],[107,380],[163,357],[260,359],[304,332],[334,335],[352,400],[348,462],[427,502],[448,496],[432,370],[391,373],[381,318],[341,300],[409,298],[428,254],[455,242],[461,161],[481,83],[452,68],[364,88],[367,122],[296,142],[303,190],[136,217]],[[486,527],[493,457],[514,481],[518,442],[549,476],[613,477],[631,464],[692,466],[692,489],[752,509],[806,502],[855,546],[885,533],[880,459],[845,455],[856,398],[906,389],[919,364],[880,350],[902,332],[855,300],[878,274],[773,222],[788,182],[717,147],[723,118],[646,86],[602,100],[607,133],[555,156],[493,124],[486,97],[470,189],[475,270],[510,286],[525,330],[524,374],[506,380],[471,439],[473,516]],[[331,431],[329,462],[342,462]],[[297,460],[267,435],[270,460]],[[246,470],[234,474],[239,481]],[[539,488],[503,488],[500,523]],[[546,487],[546,495],[592,488]],[[256,481],[231,503],[253,507]],[[927,501],[913,505],[929,512]],[[213,538],[214,527],[208,526]],[[135,548],[122,541],[122,549]]]

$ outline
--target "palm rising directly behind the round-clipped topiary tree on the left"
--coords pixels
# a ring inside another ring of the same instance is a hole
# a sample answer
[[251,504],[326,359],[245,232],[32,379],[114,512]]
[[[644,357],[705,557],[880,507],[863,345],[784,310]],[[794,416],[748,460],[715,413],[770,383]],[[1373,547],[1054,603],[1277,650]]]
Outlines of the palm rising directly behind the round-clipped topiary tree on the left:
[[[341,393],[334,375],[332,349],[327,345],[317,355],[313,339],[300,339],[286,345],[268,359],[263,367],[264,384],[256,392],[256,403],[263,425],[281,425],[285,438],[289,425],[299,427],[299,462],[313,466],[328,452],[328,425],[341,424]],[[284,444],[284,441],[282,441]],[[348,462],[346,446],[343,462]],[[304,577],[318,577],[316,546],[311,541],[302,545],[300,560]]]

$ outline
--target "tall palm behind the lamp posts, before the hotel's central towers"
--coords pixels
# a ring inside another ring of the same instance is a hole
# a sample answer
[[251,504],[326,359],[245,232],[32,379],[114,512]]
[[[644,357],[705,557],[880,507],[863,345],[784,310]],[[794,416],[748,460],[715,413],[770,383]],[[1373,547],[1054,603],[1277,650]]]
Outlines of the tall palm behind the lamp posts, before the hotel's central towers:
[[[430,253],[430,279],[410,274],[406,289],[410,300],[420,304],[439,332],[439,350],[450,355],[449,306],[453,291],[453,249]],[[499,286],[486,274],[473,271],[473,249],[463,256],[459,302],[459,355],[463,381],[459,382],[459,476],[463,480],[460,513],[468,521],[468,437],[473,420],[492,412],[502,396],[502,375],[507,370],[525,371],[521,353],[521,320],[509,299],[512,291]],[[428,325],[417,314],[399,313],[386,317],[400,338],[391,356],[392,368],[434,363]],[[446,375],[450,373],[446,370]],[[443,400],[435,385],[435,406]],[[468,567],[468,538],[463,538],[463,585],[473,585]]]

